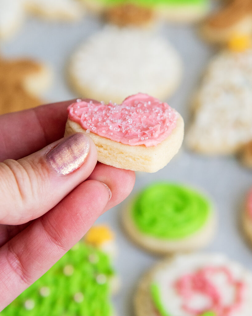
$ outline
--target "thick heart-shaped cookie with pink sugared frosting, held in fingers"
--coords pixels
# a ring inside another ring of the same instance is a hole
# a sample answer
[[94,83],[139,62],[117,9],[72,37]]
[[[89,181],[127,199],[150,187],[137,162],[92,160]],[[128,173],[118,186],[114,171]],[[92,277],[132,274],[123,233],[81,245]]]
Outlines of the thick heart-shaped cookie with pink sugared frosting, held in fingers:
[[88,133],[98,161],[118,168],[156,172],[183,140],[180,114],[147,94],[129,96],[122,104],[78,99],[68,112],[65,135]]

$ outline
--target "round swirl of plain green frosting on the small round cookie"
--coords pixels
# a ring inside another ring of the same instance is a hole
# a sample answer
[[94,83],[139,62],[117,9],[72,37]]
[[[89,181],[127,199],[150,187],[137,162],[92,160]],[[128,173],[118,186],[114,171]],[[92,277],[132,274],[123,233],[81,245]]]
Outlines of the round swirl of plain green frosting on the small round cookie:
[[131,214],[141,233],[176,240],[202,228],[211,209],[208,199],[191,188],[157,183],[140,192]]

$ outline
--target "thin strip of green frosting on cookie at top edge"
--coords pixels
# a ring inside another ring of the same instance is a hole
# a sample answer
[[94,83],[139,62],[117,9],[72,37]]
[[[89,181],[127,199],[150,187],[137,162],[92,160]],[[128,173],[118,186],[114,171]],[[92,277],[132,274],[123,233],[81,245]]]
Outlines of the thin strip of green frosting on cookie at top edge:
[[205,6],[209,3],[209,0],[99,0],[108,5],[117,5],[121,3],[134,3],[142,6],[159,6],[159,5],[168,5],[168,6],[180,6],[180,5],[198,5]]

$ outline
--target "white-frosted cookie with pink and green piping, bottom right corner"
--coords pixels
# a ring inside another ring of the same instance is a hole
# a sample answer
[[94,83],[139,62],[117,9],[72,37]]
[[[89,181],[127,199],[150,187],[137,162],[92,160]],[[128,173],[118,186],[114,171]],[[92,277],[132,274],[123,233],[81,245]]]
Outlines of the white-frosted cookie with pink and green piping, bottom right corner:
[[251,316],[252,273],[222,254],[177,255],[140,280],[136,316]]

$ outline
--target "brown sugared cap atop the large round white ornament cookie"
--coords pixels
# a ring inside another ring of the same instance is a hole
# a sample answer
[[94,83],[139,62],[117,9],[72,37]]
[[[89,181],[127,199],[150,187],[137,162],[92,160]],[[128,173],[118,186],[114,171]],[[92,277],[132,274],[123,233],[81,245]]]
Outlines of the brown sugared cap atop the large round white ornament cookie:
[[154,22],[154,12],[150,8],[124,3],[106,8],[104,18],[120,27],[127,25],[148,27]]

